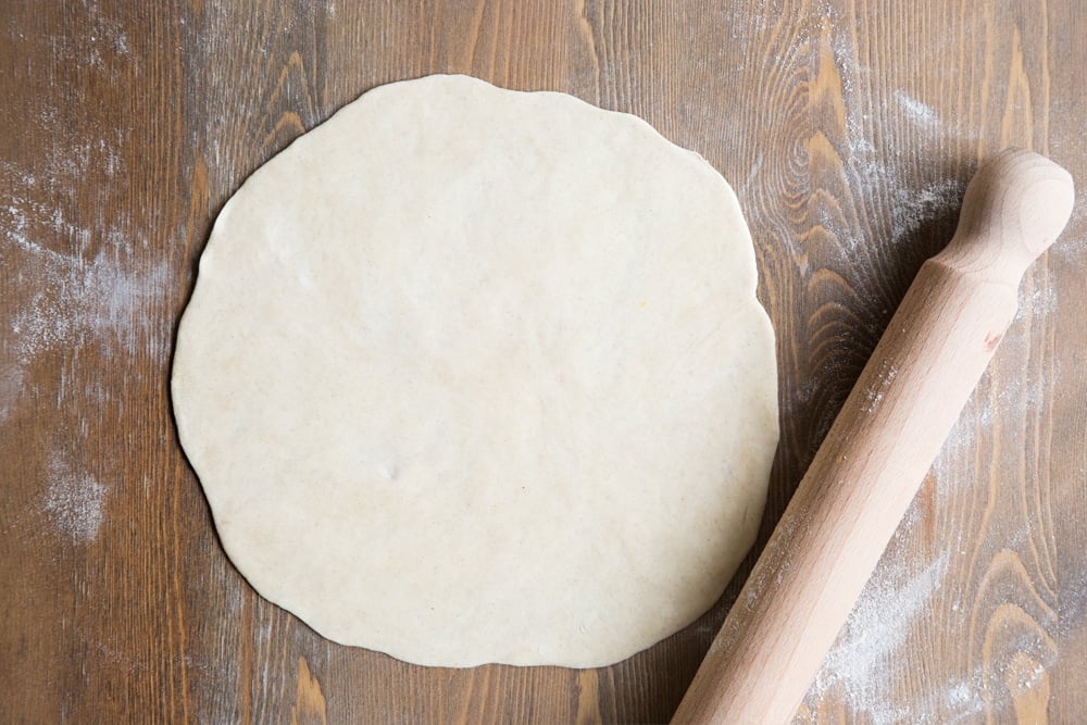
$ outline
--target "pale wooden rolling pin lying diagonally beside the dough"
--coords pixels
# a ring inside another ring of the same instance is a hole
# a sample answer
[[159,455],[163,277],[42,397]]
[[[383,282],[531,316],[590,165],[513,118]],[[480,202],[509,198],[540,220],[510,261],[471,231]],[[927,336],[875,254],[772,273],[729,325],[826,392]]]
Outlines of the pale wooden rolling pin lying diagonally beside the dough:
[[982,165],[954,238],[917,273],[673,723],[791,722],[1073,196],[1069,173],[1036,153]]

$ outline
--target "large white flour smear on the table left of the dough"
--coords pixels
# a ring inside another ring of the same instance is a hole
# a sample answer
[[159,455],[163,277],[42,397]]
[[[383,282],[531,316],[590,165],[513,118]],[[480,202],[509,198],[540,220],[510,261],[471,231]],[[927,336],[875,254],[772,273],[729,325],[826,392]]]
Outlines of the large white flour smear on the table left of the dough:
[[[110,161],[116,153],[104,142],[72,149],[66,161],[57,153],[47,163],[46,188],[77,183],[90,163],[80,149],[95,149],[93,162],[107,167],[120,163]],[[0,422],[16,402],[11,382],[22,380],[39,354],[97,346],[108,355],[165,360],[168,340],[155,334],[153,308],[168,289],[166,261],[140,265],[135,249],[145,245],[126,229],[97,218],[75,223],[62,207],[33,201],[42,183],[32,173],[0,166],[0,179],[14,190],[0,205],[0,263],[17,270],[12,298],[18,300],[5,308],[0,328]]]

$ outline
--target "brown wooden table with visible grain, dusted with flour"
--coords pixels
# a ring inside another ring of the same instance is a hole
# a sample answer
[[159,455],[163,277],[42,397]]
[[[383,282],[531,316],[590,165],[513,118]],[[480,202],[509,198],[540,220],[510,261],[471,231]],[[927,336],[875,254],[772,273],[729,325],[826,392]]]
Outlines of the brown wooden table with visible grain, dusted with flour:
[[[582,672],[413,666],[253,592],[170,412],[216,211],[390,80],[470,73],[647,118],[733,182],[754,236],[782,403],[763,541],[977,160],[1024,146],[1083,183],[1085,36],[1079,0],[7,0],[0,721],[667,720],[753,559],[695,625]],[[1084,209],[800,721],[1087,717]]]

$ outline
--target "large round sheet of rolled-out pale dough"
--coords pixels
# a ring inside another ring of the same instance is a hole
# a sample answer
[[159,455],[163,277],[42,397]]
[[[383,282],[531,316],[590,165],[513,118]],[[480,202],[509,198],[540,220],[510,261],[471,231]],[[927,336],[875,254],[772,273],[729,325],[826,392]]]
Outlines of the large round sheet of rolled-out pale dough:
[[597,666],[754,539],[773,330],[725,180],[634,116],[383,86],[224,207],[173,398],[230,559],[339,642]]

